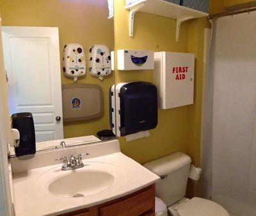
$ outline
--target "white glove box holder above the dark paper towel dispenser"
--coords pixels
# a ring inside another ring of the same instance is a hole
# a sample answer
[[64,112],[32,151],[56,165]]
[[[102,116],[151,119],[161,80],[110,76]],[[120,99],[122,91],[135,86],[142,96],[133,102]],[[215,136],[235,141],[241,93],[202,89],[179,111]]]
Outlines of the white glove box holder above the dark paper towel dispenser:
[[154,69],[154,52],[150,50],[117,50],[117,68],[121,71]]

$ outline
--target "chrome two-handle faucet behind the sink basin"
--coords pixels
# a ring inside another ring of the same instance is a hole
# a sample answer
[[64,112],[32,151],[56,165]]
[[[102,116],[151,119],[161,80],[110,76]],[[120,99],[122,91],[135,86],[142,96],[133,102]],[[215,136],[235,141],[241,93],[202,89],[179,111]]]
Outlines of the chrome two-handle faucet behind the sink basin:
[[61,166],[62,170],[70,170],[70,169],[78,169],[78,168],[82,168],[84,166],[83,163],[83,156],[89,155],[88,153],[84,153],[84,154],[79,154],[77,155],[77,157],[75,157],[73,154],[71,155],[69,161],[67,160],[67,157],[59,157],[57,159],[55,159],[54,161],[63,161],[63,164]]

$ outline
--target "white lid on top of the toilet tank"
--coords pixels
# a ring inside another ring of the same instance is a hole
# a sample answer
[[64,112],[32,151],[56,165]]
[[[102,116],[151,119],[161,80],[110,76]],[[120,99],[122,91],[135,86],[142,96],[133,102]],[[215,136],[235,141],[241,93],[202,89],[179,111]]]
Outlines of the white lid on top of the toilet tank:
[[149,169],[156,175],[167,175],[176,171],[177,169],[183,168],[191,163],[189,155],[183,152],[175,152],[173,154],[161,157],[154,161],[147,162],[143,166]]

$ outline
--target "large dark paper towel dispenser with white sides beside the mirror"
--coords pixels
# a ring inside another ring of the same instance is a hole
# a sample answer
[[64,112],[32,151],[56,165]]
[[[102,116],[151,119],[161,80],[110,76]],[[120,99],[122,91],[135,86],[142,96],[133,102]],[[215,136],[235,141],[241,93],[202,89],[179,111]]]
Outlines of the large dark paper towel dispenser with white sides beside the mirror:
[[[113,92],[113,90],[111,90]],[[115,87],[116,136],[147,131],[157,126],[157,89],[148,82],[118,83]],[[113,123],[113,121],[112,121]]]

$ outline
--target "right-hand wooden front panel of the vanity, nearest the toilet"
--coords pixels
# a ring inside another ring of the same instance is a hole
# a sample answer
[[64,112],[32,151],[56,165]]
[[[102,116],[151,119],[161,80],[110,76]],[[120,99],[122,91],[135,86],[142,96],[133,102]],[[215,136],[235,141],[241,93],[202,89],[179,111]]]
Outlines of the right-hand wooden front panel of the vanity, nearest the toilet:
[[104,206],[100,208],[99,212],[101,216],[153,216],[155,215],[155,189],[154,187],[150,187],[140,194]]

